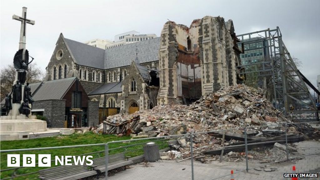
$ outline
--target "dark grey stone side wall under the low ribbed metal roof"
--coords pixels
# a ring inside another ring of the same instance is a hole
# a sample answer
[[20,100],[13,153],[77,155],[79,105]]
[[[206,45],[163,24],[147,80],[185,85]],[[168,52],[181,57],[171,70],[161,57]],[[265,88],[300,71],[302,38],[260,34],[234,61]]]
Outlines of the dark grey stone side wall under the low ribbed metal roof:
[[64,127],[65,107],[65,100],[36,101],[33,103],[33,109],[44,109],[44,116],[51,127]]

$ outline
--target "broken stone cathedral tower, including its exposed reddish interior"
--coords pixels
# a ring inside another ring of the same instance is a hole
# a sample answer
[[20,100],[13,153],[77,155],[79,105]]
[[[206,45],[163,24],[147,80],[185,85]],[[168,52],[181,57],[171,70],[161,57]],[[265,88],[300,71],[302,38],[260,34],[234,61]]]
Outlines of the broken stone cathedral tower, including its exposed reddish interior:
[[236,85],[240,50],[232,20],[205,16],[190,27],[168,21],[161,31],[158,105],[200,98]]

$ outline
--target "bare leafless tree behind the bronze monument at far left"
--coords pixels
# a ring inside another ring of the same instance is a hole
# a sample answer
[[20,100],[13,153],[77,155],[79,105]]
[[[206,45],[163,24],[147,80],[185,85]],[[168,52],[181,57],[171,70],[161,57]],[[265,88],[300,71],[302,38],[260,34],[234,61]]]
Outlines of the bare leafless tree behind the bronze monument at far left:
[[[13,65],[8,65],[1,69],[1,101],[5,94],[9,94],[12,89],[13,81],[15,80],[16,70]],[[36,65],[36,63],[29,64],[26,81],[30,84],[41,82],[44,73]]]

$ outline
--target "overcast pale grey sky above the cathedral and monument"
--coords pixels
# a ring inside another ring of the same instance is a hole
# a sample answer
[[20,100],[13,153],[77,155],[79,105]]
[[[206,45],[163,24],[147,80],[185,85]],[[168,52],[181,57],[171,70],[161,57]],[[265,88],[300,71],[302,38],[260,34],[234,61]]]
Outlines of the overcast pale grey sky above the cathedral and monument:
[[27,26],[27,49],[45,70],[60,33],[76,41],[101,38],[130,30],[160,36],[167,19],[189,26],[206,15],[232,19],[236,34],[279,26],[293,57],[302,61],[302,73],[316,85],[320,74],[319,0],[1,0],[1,68],[12,64],[19,47],[21,16],[35,20]]

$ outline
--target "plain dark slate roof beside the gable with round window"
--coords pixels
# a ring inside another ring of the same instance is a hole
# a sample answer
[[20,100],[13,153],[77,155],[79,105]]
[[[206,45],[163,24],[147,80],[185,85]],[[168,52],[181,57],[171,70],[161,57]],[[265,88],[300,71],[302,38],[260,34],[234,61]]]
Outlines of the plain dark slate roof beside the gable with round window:
[[78,65],[104,69],[105,50],[71,39],[64,39]]

